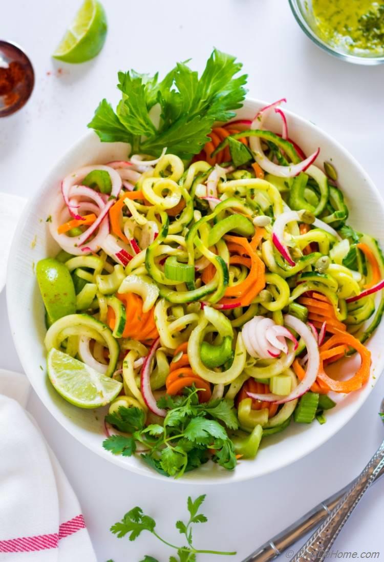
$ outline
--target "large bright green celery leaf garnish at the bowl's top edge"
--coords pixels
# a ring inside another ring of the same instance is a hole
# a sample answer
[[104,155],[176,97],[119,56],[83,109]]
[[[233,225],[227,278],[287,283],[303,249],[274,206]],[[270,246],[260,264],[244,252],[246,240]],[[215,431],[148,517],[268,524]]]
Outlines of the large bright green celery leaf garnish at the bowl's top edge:
[[228,121],[243,104],[247,75],[236,76],[241,67],[214,49],[200,78],[186,62],[161,81],[158,74],[119,72],[116,111],[103,99],[88,126],[102,142],[127,142],[133,152],[154,156],[167,147],[189,160],[209,140],[214,122]]

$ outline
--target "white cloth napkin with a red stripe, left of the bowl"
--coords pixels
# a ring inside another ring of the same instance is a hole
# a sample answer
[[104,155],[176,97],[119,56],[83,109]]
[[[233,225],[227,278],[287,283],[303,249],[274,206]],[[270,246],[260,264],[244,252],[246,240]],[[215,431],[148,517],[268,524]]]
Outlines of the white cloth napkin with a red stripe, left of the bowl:
[[29,383],[0,370],[0,562],[97,562],[79,502],[24,410]]

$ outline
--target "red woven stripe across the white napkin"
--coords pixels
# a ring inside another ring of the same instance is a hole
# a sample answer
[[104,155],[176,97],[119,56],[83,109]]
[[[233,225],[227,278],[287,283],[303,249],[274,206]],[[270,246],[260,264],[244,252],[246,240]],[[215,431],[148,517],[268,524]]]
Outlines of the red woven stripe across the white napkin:
[[85,527],[83,515],[77,515],[73,519],[62,523],[58,533],[0,541],[0,552],[34,552],[37,550],[57,549],[59,540],[80,531],[80,529],[85,529]]

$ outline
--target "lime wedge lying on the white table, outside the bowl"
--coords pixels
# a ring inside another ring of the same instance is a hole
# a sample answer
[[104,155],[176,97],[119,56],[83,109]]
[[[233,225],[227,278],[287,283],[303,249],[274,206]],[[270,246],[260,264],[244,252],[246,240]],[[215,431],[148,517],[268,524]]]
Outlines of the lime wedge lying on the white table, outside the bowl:
[[102,4],[85,0],[52,56],[64,62],[89,61],[103,48],[106,35],[107,17]]

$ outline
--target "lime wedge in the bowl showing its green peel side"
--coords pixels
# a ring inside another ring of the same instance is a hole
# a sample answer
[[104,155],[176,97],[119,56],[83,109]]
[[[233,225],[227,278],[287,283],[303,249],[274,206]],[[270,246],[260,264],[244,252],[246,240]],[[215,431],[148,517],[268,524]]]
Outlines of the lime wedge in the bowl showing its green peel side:
[[40,260],[36,278],[42,293],[48,324],[76,312],[75,286],[68,268],[53,257]]

